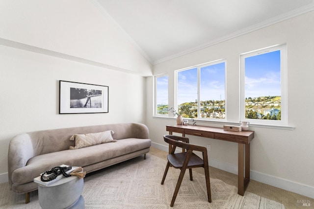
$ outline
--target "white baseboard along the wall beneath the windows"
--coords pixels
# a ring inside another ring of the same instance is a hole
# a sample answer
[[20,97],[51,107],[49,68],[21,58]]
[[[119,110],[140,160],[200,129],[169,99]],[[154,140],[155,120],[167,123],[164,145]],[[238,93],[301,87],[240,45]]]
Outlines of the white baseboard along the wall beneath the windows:
[[[159,150],[168,152],[168,146],[158,144],[155,142],[152,142],[152,146]],[[221,162],[219,160],[215,160],[212,158],[209,158],[209,165],[214,168],[218,168],[218,169],[221,169],[221,170],[233,173],[233,174],[237,174],[237,165],[229,164],[226,162]],[[265,183],[271,186],[285,189],[290,192],[294,192],[300,195],[314,198],[313,186],[292,182],[286,179],[281,179],[275,176],[270,176],[270,175],[253,171],[253,170],[250,171],[250,177],[251,177],[251,180],[254,180],[257,182]]]

